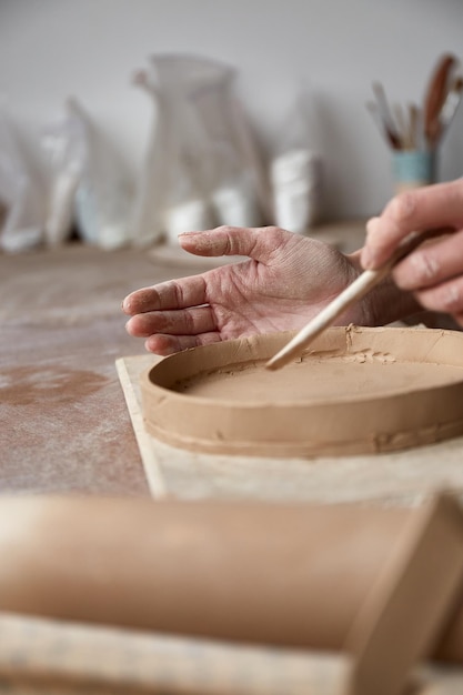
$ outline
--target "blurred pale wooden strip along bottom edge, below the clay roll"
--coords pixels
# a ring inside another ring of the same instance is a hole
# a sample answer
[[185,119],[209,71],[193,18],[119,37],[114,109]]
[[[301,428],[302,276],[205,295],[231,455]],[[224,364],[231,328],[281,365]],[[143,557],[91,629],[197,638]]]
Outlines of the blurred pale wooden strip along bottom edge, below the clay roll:
[[[189,639],[0,614],[0,693],[345,695],[345,655]],[[423,666],[413,695],[461,695],[460,669]],[[373,694],[372,694],[373,695]]]

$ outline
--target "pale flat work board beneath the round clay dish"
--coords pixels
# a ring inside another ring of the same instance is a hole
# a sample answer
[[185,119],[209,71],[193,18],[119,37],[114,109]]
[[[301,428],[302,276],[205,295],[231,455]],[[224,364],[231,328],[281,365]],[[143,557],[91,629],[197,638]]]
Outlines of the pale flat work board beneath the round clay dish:
[[155,498],[362,502],[414,506],[435,490],[463,498],[463,437],[393,453],[264,459],[193,453],[144,429],[140,375],[160,357],[121,357],[117,370]]

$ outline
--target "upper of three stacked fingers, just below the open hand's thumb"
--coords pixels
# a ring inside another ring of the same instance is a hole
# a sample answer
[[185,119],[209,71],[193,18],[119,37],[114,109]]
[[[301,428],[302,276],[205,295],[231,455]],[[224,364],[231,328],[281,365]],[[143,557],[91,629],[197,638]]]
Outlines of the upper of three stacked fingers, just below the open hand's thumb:
[[148,311],[175,310],[204,304],[207,302],[207,274],[168,280],[152,288],[137,290],[123,300],[122,311],[133,316]]

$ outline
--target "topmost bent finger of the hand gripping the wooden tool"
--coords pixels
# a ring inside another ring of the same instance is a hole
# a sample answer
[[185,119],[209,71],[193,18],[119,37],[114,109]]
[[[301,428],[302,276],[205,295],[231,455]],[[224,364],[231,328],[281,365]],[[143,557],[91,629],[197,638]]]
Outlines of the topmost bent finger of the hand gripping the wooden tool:
[[380,218],[366,225],[363,268],[378,268],[411,232],[455,228],[463,223],[463,180],[423,187],[396,195]]

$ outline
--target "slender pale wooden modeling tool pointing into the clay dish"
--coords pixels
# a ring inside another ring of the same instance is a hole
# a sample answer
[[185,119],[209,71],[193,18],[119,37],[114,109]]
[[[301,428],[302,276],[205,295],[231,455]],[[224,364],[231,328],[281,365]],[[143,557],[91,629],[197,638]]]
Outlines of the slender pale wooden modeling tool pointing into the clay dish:
[[328,306],[316,314],[309,323],[290,340],[282,350],[271,357],[265,369],[275,371],[299,357],[303,350],[310,345],[325,329],[349,309],[354,302],[361,300],[370,290],[378,285],[384,278],[389,275],[394,265],[416,249],[425,239],[442,234],[442,230],[436,232],[417,232],[409,234],[409,236],[396,248],[391,258],[376,270],[365,270],[352,284],[348,285],[341,294],[339,294]]

